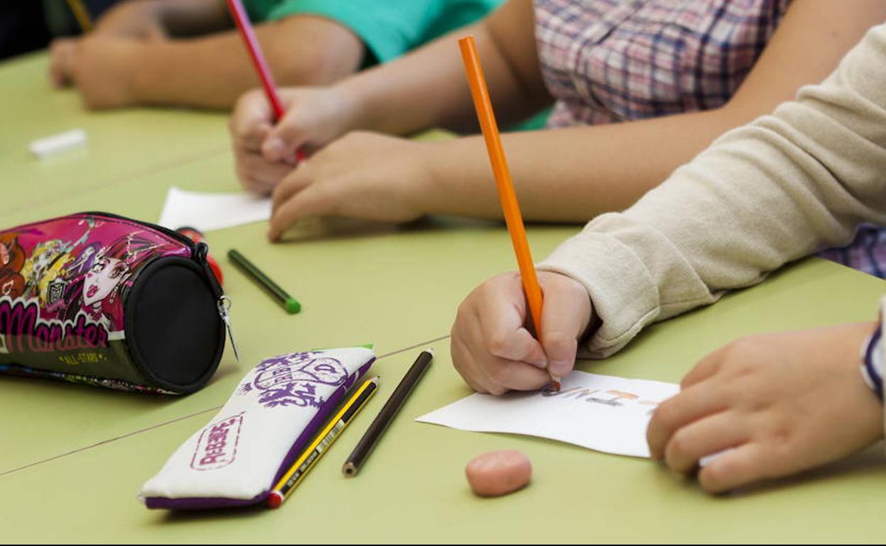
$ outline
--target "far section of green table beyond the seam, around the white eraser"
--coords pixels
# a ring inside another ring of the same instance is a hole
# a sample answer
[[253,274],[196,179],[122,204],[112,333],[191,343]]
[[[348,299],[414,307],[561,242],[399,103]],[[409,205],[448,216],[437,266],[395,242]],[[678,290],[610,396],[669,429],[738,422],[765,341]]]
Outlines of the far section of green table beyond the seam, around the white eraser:
[[[0,65],[0,185],[4,204],[19,209],[65,202],[84,191],[125,185],[195,158],[228,154],[227,119],[177,109],[84,112],[72,89],[55,90],[44,55]],[[88,146],[39,160],[29,142],[74,128]],[[158,205],[159,206],[159,205]]]

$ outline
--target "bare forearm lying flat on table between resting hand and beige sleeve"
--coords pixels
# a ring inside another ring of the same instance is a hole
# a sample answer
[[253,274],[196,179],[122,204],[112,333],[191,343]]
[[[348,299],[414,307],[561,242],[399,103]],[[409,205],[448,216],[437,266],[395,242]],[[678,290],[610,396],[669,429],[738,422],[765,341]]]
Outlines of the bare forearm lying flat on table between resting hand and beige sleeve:
[[[620,211],[688,162],[728,128],[729,112],[709,111],[599,127],[502,135],[526,219],[586,222]],[[429,144],[431,188],[423,210],[501,218],[481,136]]]

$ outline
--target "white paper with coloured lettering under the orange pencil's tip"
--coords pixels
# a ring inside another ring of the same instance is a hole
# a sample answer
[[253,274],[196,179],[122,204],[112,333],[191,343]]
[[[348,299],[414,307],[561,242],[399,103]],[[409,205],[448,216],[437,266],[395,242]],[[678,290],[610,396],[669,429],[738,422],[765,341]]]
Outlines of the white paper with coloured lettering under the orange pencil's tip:
[[474,432],[527,434],[592,450],[649,457],[652,410],[680,386],[572,372],[559,393],[474,394],[416,419]]

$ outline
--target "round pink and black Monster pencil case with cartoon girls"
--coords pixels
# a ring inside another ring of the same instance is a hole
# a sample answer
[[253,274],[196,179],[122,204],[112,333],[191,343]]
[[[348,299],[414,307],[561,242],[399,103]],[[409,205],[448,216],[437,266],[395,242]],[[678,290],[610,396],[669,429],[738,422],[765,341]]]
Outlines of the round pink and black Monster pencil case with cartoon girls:
[[102,212],[0,231],[0,372],[187,394],[212,377],[228,301],[205,243]]

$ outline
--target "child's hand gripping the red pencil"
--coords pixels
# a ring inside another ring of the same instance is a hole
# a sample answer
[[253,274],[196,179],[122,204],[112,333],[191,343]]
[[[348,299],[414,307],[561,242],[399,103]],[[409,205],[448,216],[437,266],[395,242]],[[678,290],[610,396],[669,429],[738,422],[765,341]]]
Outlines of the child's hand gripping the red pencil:
[[297,150],[311,152],[344,135],[353,119],[351,102],[337,88],[281,89],[286,115],[276,123],[262,89],[237,100],[229,129],[237,177],[248,191],[268,194],[296,164]]

